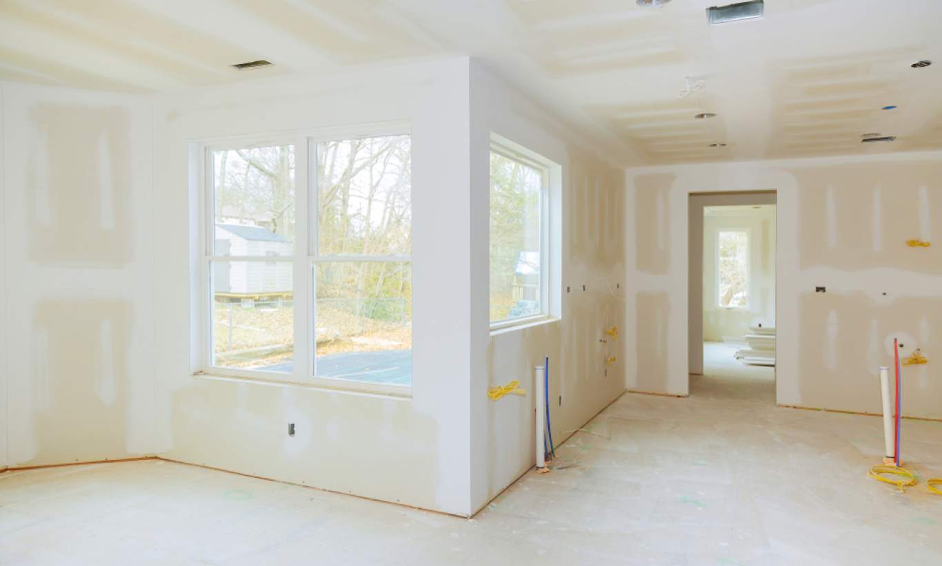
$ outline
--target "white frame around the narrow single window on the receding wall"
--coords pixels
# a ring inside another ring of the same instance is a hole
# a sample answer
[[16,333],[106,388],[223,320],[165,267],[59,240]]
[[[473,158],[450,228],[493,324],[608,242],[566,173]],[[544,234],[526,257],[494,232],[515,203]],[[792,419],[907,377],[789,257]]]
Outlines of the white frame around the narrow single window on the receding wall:
[[534,315],[528,315],[526,317],[518,317],[515,319],[504,319],[502,321],[491,321],[490,320],[490,276],[491,276],[491,257],[490,257],[490,245],[488,246],[488,322],[492,332],[499,330],[512,329],[518,326],[528,326],[537,322],[544,322],[551,319],[550,316],[550,240],[549,240],[549,221],[550,221],[550,183],[552,182],[550,175],[550,168],[554,165],[549,160],[544,157],[528,150],[528,149],[513,149],[511,145],[512,142],[509,140],[497,139],[498,136],[492,134],[490,148],[488,150],[488,179],[487,179],[487,191],[488,191],[488,242],[490,242],[490,218],[491,218],[491,175],[490,175],[490,160],[491,154],[496,153],[505,159],[510,159],[521,165],[527,165],[533,167],[540,171],[540,312]]

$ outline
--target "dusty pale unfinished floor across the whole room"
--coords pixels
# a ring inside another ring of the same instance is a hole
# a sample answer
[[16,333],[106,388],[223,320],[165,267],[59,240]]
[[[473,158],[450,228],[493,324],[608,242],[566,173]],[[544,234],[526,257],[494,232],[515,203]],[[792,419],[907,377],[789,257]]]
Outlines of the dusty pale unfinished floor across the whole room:
[[[162,461],[8,472],[0,563],[942,563],[942,496],[867,477],[880,418],[728,385],[626,394],[557,448],[569,467],[471,520]],[[920,479],[942,476],[942,423],[904,421],[903,438]]]

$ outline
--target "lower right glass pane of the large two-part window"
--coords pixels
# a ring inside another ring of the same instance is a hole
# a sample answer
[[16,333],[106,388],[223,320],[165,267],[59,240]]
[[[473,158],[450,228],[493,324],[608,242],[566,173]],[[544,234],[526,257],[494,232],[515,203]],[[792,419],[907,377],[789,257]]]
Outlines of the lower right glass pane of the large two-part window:
[[408,262],[317,263],[317,377],[412,385],[411,270]]

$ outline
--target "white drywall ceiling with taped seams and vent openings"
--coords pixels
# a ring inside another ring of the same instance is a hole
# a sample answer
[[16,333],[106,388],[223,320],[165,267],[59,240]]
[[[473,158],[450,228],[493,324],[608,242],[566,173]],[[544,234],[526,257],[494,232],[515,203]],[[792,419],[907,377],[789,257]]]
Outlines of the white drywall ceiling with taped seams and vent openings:
[[[475,55],[623,165],[942,149],[942,0],[766,0],[707,25],[723,3],[0,0],[0,79],[166,92]],[[276,66],[228,67],[259,58]],[[688,76],[706,87],[680,99]]]

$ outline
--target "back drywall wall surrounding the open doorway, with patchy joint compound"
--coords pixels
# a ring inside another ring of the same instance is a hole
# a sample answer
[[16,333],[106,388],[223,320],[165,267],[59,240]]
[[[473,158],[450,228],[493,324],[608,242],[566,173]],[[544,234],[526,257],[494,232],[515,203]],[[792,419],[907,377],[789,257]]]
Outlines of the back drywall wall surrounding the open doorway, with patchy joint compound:
[[[625,344],[634,360],[627,387],[688,393],[690,194],[775,190],[777,401],[879,412],[878,367],[892,363],[892,338],[901,337],[903,354],[918,347],[930,360],[904,371],[905,414],[942,417],[933,363],[942,352],[933,314],[942,301],[942,249],[905,244],[931,241],[942,226],[940,179],[937,152],[629,169],[626,237],[650,242],[658,237],[651,230],[664,232],[672,253],[665,273],[642,260],[642,244],[626,247],[625,310],[635,329]],[[652,192],[669,210],[668,226],[637,221],[658,214]],[[644,332],[661,327],[663,339]]]

